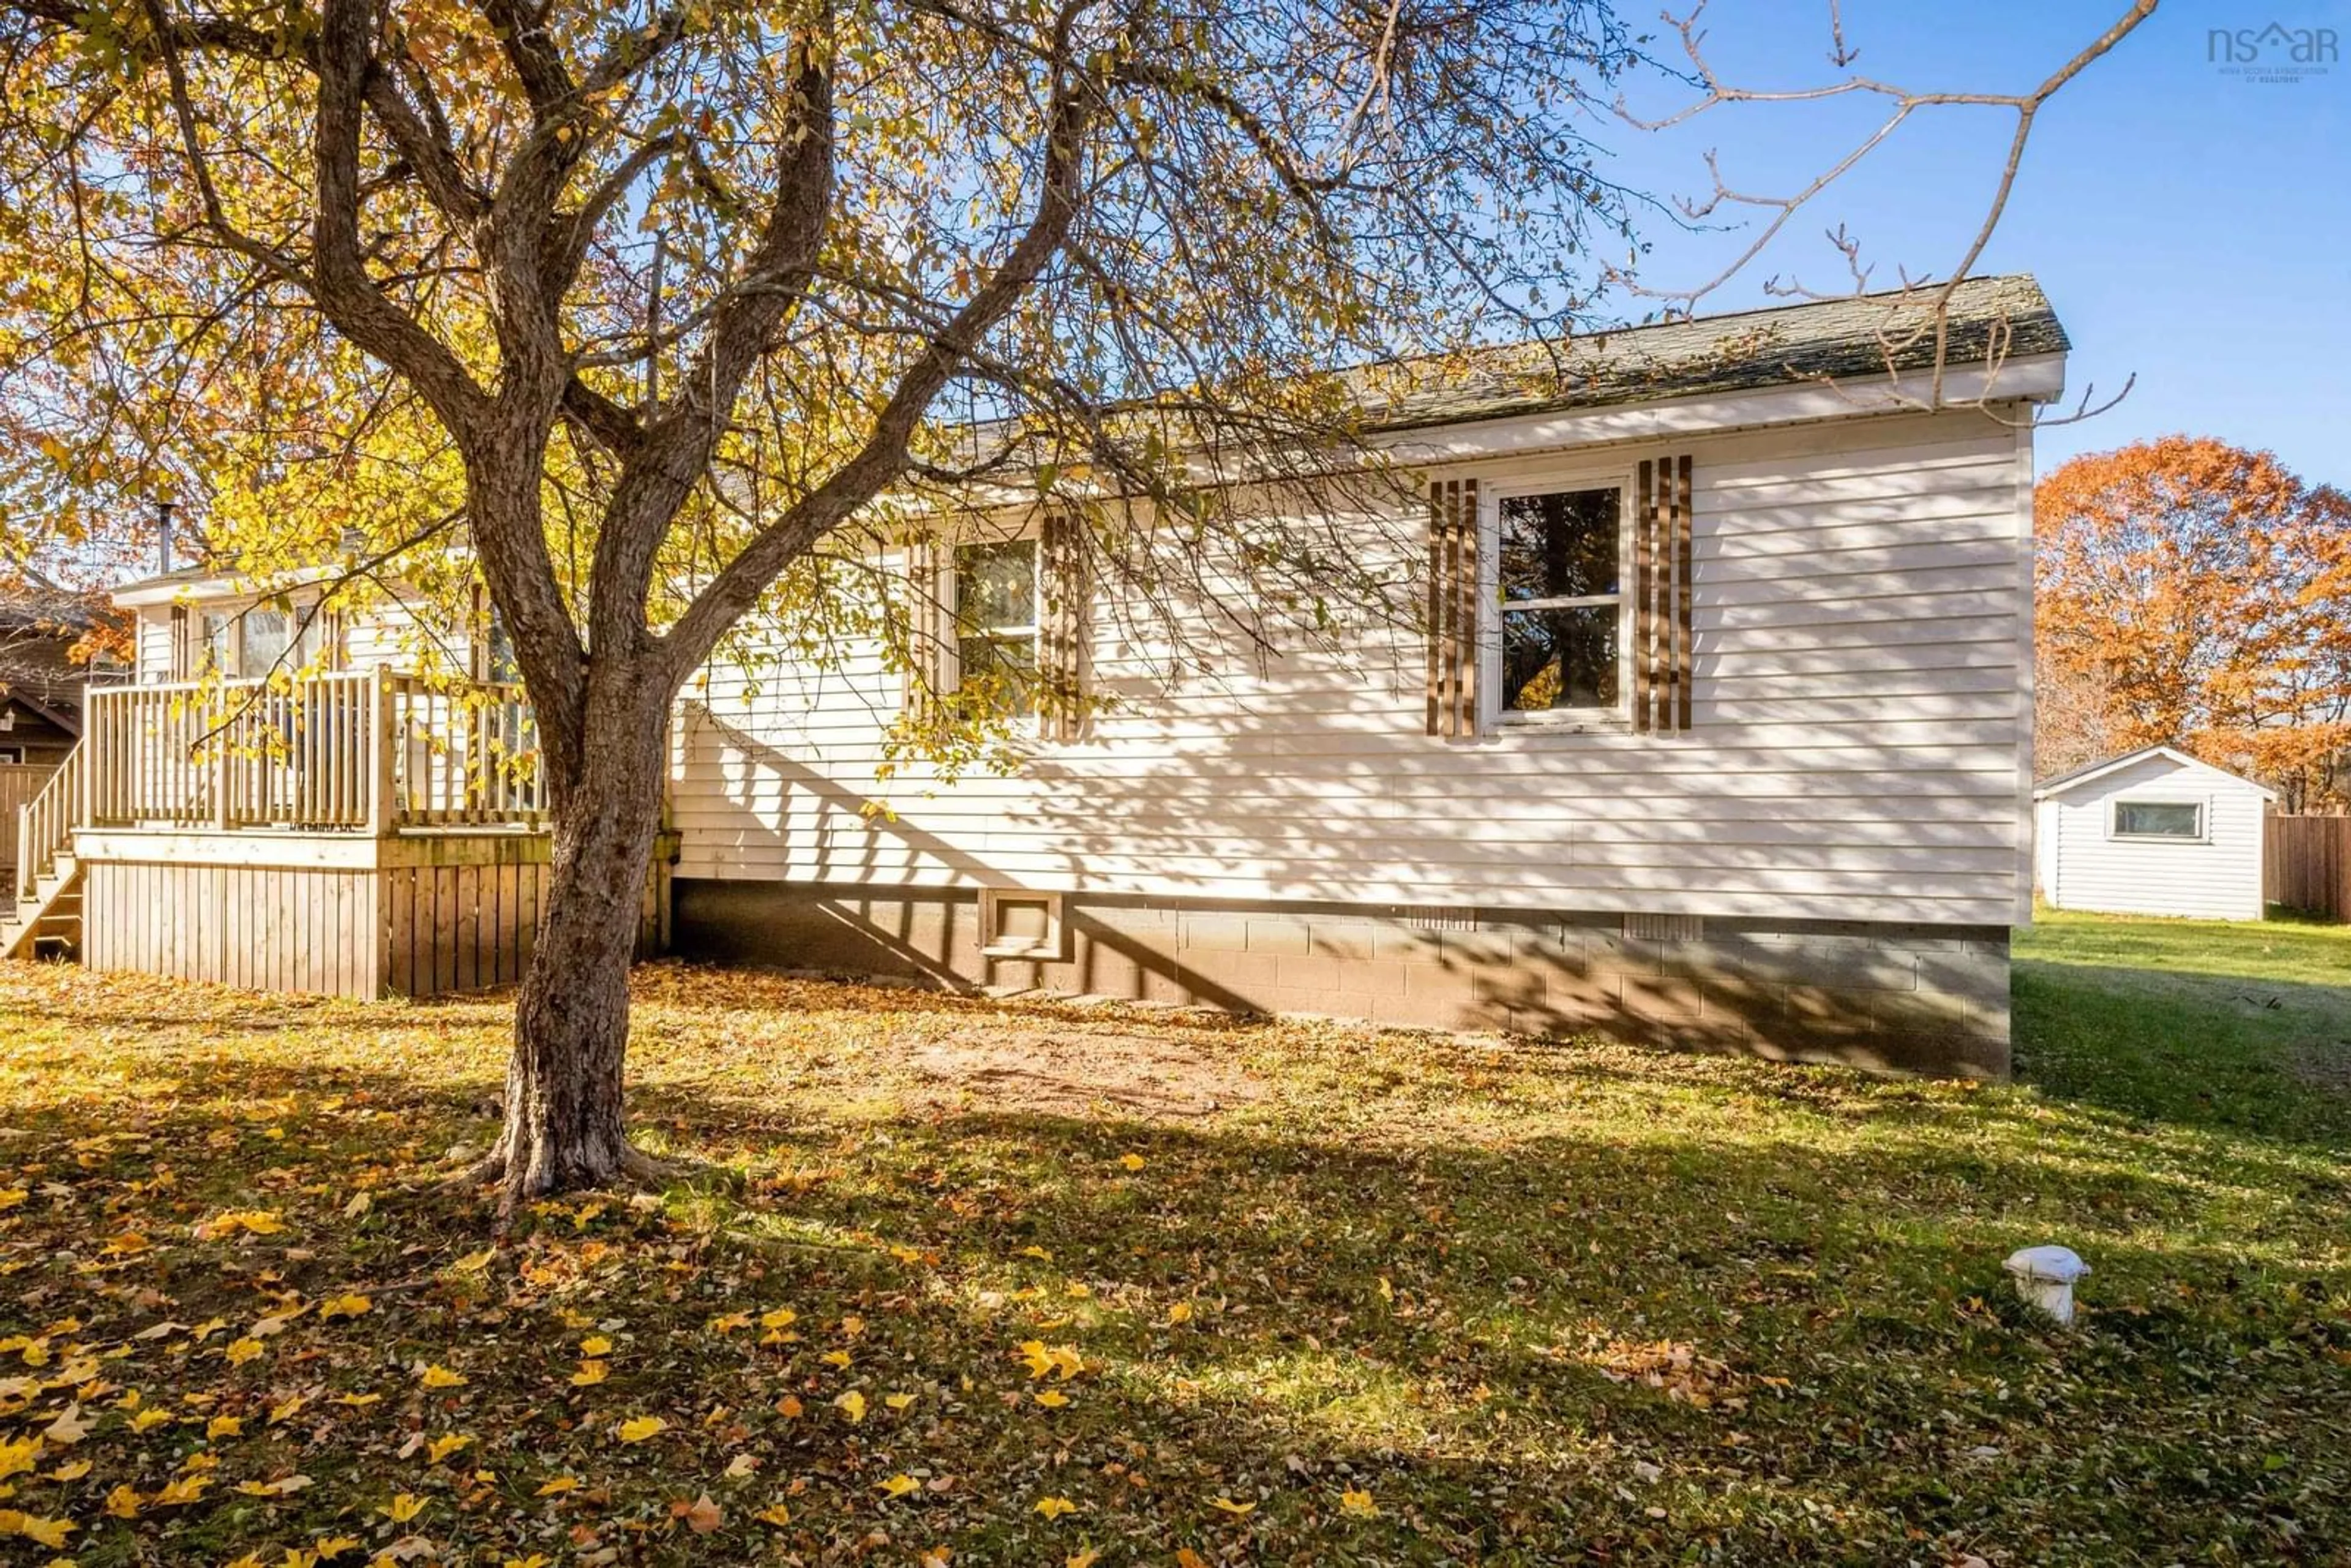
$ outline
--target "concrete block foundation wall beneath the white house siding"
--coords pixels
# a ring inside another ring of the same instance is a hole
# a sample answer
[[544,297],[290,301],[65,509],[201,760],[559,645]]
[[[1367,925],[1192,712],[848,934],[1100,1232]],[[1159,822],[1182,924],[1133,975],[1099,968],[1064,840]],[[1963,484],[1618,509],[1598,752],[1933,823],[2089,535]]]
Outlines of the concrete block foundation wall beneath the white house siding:
[[1004,959],[971,889],[708,879],[672,922],[719,964],[2008,1077],[2008,926],[1065,893],[1058,957]]

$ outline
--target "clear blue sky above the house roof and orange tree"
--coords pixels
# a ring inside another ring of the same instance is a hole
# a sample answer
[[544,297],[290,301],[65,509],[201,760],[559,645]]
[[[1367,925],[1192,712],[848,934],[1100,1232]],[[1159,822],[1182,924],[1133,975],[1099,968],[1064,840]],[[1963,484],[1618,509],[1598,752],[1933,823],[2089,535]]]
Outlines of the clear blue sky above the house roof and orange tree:
[[[1641,14],[1634,0],[1629,14]],[[1855,71],[1902,87],[2020,92],[2102,33],[2125,0],[1846,0]],[[2031,270],[2074,339],[2071,393],[2137,374],[2092,421],[2045,428],[2043,473],[2076,451],[2189,430],[2269,447],[2304,477],[2351,484],[2351,59],[2292,85],[2226,75],[2210,28],[2332,28],[2351,0],[2168,0],[2043,110],[2017,193],[1980,270]],[[1726,82],[1836,80],[1827,0],[1716,0],[1707,56]],[[1679,40],[1655,28],[1655,47]],[[2271,59],[2283,54],[2271,52]],[[1646,87],[1655,115],[1676,94]],[[1615,174],[1704,195],[1704,153],[1730,186],[1780,195],[1829,167],[1878,106],[1726,106],[1669,134],[1606,125]],[[1763,280],[1848,289],[1824,230],[1846,223],[1878,282],[1947,275],[1980,223],[2012,115],[1923,110],[1796,219],[1707,310],[1770,303]],[[1763,219],[1749,219],[1761,223]],[[1747,235],[1650,221],[1653,287],[1693,287]],[[1620,306],[1622,308],[1622,306]],[[1636,306],[1634,306],[1636,308]]]

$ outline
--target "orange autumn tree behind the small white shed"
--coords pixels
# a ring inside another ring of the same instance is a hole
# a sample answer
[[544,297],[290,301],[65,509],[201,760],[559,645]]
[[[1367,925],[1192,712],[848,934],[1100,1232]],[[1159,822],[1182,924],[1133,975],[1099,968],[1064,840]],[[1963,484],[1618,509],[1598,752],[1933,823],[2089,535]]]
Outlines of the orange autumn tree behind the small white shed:
[[2043,771],[2179,745],[2288,811],[2344,804],[2351,496],[2269,451],[2165,435],[2034,494]]

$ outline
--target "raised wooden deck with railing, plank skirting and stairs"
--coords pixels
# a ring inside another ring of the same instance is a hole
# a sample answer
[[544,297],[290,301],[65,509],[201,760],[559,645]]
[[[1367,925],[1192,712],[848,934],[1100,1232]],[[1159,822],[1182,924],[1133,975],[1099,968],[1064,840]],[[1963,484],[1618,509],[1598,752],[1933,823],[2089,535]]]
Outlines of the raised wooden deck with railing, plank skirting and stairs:
[[334,997],[508,985],[538,926],[543,799],[515,686],[369,670],[92,691],[82,748],[16,813],[0,952]]

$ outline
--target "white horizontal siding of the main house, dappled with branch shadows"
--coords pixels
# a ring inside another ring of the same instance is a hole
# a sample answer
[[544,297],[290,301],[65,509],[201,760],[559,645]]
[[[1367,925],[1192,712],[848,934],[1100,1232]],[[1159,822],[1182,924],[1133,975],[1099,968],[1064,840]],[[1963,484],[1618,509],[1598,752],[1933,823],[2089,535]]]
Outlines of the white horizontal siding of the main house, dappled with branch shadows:
[[1168,689],[1164,630],[1098,607],[1093,682],[1121,708],[1013,776],[877,780],[898,708],[877,656],[708,670],[677,724],[677,875],[2008,924],[2020,435],[1944,414],[1686,447],[1688,733],[1429,738],[1422,651],[1385,630],[1352,661],[1227,646]]

